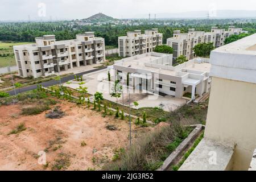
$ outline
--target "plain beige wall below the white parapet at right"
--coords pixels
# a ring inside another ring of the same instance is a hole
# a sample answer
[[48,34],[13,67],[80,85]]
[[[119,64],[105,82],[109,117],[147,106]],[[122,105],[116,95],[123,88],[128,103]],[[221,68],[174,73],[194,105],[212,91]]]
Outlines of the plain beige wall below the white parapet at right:
[[234,170],[247,170],[256,148],[256,84],[212,77],[205,138],[235,145]]

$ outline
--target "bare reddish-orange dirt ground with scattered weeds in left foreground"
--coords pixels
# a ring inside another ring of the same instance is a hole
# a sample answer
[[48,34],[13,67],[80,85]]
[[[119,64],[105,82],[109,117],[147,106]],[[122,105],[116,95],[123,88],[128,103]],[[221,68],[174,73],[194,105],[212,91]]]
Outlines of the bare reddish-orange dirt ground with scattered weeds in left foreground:
[[[19,104],[0,106],[0,170],[52,170],[56,166],[61,170],[97,170],[112,160],[115,150],[128,146],[127,121],[104,118],[97,111],[70,102],[57,105],[65,111],[65,117],[48,119],[47,111],[24,116]],[[19,123],[27,129],[9,135]],[[106,129],[108,124],[118,130]],[[157,127],[132,128],[132,137],[137,138]],[[38,164],[39,151],[46,151],[46,166]]]

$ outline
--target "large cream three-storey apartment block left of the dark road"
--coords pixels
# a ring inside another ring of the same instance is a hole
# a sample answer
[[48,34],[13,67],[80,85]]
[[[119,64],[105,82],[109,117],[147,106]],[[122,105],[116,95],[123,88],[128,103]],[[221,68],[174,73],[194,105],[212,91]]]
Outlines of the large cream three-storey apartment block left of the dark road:
[[35,38],[35,44],[14,46],[21,77],[50,76],[75,67],[105,61],[105,41],[94,32],[76,35],[74,40],[56,41],[55,35]]

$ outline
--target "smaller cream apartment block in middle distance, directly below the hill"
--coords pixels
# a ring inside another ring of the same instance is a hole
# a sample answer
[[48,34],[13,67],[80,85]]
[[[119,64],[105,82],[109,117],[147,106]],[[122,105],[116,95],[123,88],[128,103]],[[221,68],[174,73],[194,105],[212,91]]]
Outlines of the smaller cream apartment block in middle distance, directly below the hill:
[[154,51],[155,47],[162,45],[163,34],[158,32],[158,28],[127,32],[127,36],[118,37],[119,56],[135,56]]

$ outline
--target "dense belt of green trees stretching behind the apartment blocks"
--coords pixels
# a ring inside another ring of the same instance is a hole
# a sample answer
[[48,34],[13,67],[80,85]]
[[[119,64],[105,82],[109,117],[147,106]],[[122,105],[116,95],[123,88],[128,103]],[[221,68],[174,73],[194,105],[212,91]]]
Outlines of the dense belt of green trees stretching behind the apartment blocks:
[[[166,39],[172,37],[174,30],[188,32],[188,28],[195,28],[197,31],[210,31],[210,27],[218,26],[228,28],[230,24],[177,24],[165,26],[159,24],[143,24],[139,26],[127,25],[102,25],[102,26],[81,26],[74,22],[32,22],[32,23],[0,23],[0,41],[15,42],[34,42],[35,37],[53,34],[56,40],[75,39],[76,34],[85,31],[94,31],[96,36],[105,38],[105,44],[108,46],[118,46],[118,36],[126,35],[127,31],[144,30],[158,28],[163,33],[163,43]],[[256,23],[233,23],[236,27],[248,30],[252,34],[256,30]]]

